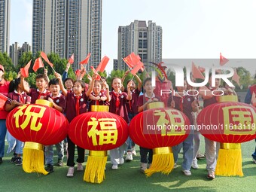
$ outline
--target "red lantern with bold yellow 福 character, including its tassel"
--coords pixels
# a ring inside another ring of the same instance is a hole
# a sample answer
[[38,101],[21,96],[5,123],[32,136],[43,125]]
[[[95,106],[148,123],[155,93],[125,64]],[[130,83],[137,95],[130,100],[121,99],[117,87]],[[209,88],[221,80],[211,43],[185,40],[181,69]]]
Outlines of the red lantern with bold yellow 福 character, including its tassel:
[[90,150],[84,181],[101,183],[105,178],[106,152],[126,142],[128,125],[117,114],[106,112],[108,106],[93,105],[91,111],[72,120],[69,138],[75,145]]

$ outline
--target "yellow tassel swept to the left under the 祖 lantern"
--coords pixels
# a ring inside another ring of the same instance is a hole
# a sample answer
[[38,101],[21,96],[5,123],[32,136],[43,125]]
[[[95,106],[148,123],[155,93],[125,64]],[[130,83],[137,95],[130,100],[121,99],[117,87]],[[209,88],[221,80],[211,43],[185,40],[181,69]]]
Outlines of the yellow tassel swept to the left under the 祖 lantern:
[[154,148],[151,167],[145,170],[145,175],[150,177],[155,172],[162,172],[168,175],[174,167],[172,148]]

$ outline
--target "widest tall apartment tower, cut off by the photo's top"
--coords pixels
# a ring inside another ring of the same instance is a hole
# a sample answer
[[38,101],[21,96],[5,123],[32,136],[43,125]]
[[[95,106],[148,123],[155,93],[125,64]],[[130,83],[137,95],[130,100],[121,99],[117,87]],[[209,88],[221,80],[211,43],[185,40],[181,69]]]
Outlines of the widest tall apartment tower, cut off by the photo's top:
[[33,0],[32,53],[43,50],[69,59],[74,69],[88,53],[97,66],[102,50],[102,0]]

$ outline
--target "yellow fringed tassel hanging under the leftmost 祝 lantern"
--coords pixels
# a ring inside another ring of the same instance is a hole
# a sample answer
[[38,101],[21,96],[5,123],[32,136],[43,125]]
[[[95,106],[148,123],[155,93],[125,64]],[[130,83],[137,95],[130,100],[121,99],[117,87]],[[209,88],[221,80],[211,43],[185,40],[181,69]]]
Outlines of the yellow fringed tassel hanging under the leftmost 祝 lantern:
[[23,148],[23,170],[24,172],[38,172],[47,175],[44,169],[44,147],[35,142],[25,142]]

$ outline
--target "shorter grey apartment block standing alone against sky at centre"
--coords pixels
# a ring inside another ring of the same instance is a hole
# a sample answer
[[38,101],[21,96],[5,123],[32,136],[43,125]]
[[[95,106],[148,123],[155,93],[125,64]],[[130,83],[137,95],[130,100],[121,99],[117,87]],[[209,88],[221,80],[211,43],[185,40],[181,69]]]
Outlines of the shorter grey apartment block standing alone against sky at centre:
[[144,20],[134,20],[129,26],[119,26],[118,69],[127,69],[122,58],[132,52],[139,54],[142,62],[160,62],[162,60],[162,27],[151,20],[148,21],[148,26]]

